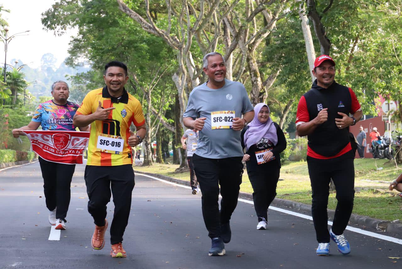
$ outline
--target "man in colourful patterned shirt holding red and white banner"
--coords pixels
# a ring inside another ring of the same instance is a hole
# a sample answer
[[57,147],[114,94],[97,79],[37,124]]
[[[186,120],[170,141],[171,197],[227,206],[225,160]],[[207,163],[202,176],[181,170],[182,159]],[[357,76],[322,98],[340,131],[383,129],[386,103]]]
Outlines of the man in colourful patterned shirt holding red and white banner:
[[[39,125],[42,125],[44,131],[57,131],[55,135],[60,136],[58,139],[59,143],[65,143],[64,140],[66,140],[67,137],[70,138],[70,135],[64,134],[64,132],[75,131],[76,127],[73,125],[72,119],[78,109],[78,105],[67,101],[70,91],[67,83],[62,80],[53,83],[51,86],[51,94],[53,100],[41,103],[28,125],[12,130],[14,138],[18,138],[20,135],[26,135],[25,131],[28,133],[29,130],[38,129]],[[80,127],[80,130],[89,131],[89,126]],[[32,136],[35,136],[35,134]],[[36,134],[36,136],[38,135]],[[36,145],[38,148],[48,146],[49,152],[52,152],[52,150],[53,152],[55,151],[50,145],[44,145],[41,142],[38,142],[38,144],[39,145]],[[57,144],[54,146],[57,149]],[[32,143],[33,150],[37,152],[34,147],[35,145]],[[75,170],[75,163],[58,163],[55,162],[56,160],[52,160],[52,158],[47,158],[47,156],[46,152],[39,154],[39,164],[43,177],[43,191],[45,193],[46,207],[49,209],[49,223],[56,225],[55,229],[57,230],[66,230],[66,216],[71,195],[70,185]],[[59,157],[59,159],[62,158]]]

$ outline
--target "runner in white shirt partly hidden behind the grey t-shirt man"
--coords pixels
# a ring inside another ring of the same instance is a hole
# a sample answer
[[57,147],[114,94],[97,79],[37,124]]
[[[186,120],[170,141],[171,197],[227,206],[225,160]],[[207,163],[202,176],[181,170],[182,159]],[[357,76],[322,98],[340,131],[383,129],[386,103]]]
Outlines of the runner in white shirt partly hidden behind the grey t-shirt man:
[[[187,139],[187,145],[186,145]],[[187,149],[187,163],[189,164],[190,168],[190,185],[191,185],[191,193],[197,194],[198,193],[198,183],[197,177],[195,176],[194,172],[194,164],[193,164],[193,154],[197,149],[197,141],[198,141],[198,131],[187,129],[182,138],[180,139],[181,146],[183,149]]]

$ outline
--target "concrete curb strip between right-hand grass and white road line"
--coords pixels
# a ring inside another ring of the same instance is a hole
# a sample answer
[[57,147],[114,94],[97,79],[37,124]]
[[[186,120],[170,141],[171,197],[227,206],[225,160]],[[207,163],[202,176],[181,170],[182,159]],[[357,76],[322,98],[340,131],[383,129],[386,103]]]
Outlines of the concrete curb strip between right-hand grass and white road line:
[[[134,170],[134,172],[139,173],[139,174],[149,175],[152,177],[157,177],[158,179],[163,179],[166,181],[178,183],[180,185],[190,186],[190,181],[174,179],[172,177],[166,177],[163,175],[147,173],[147,172],[140,172],[140,171],[136,171],[136,170]],[[252,201],[252,194],[240,192],[239,198]],[[273,200],[273,202],[271,203],[271,205],[277,206],[277,207],[285,207],[286,209],[291,209],[292,211],[300,211],[300,212],[308,213],[311,216],[311,205],[307,205],[304,203],[297,203],[294,201],[275,198]],[[334,218],[334,214],[335,214],[335,210],[328,209],[328,220],[332,220]],[[400,220],[400,221],[402,221],[402,220]],[[390,222],[390,221],[386,221],[386,220],[379,220],[379,219],[370,218],[367,216],[360,216],[357,214],[352,214],[352,216],[349,220],[349,223],[351,225],[360,226],[358,228],[364,229],[364,227],[369,227],[369,228],[373,228],[380,232],[388,232],[388,233],[390,233],[391,236],[395,236],[397,238],[402,239],[402,223],[401,222]]]

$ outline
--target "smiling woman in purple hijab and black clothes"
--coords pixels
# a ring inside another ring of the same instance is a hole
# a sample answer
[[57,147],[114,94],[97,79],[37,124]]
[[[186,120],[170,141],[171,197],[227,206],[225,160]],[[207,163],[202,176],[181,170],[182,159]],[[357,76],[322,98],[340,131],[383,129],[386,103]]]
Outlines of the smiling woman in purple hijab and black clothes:
[[267,210],[276,196],[281,170],[279,154],[286,148],[286,139],[279,125],[269,117],[269,107],[259,103],[254,107],[254,119],[243,129],[242,147],[246,148],[243,161],[253,189],[254,209],[258,230],[267,228]]

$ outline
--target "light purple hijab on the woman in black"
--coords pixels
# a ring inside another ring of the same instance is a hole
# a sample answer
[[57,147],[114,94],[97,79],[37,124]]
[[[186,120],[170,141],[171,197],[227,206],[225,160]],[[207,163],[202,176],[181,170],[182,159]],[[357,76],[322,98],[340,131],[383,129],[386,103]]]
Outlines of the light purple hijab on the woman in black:
[[254,107],[254,119],[248,123],[250,127],[247,129],[246,133],[244,133],[246,151],[248,151],[250,146],[257,144],[261,138],[268,138],[275,146],[278,143],[277,131],[271,117],[269,117],[266,123],[260,123],[258,120],[258,113],[264,106],[271,112],[268,105],[265,103],[258,103]]

